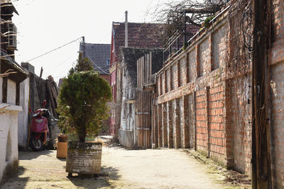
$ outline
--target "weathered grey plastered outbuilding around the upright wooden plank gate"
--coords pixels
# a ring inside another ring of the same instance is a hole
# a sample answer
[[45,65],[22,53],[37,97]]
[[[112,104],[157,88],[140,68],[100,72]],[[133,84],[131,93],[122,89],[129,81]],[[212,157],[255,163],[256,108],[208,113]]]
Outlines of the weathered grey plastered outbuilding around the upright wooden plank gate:
[[[148,66],[145,67],[145,70],[149,75],[155,74],[163,66],[163,49],[138,49],[131,47],[121,47],[121,91],[122,91],[122,101],[121,101],[121,125],[119,127],[119,143],[124,147],[133,148],[141,147],[138,143],[141,133],[138,130],[141,130],[142,127],[139,127],[138,117],[143,116],[144,114],[150,115],[151,110],[138,110],[138,65],[137,61],[141,57],[147,54],[148,55]],[[151,63],[150,63],[151,62]],[[144,62],[143,64],[147,64]],[[152,66],[153,65],[153,66]],[[151,94],[151,92],[148,92]],[[151,96],[150,96],[151,98]],[[148,99],[148,102],[151,102]],[[145,105],[146,107],[146,104]],[[150,104],[148,105],[150,108]],[[148,124],[150,127],[151,124]],[[140,134],[140,135],[139,135]],[[150,142],[150,135],[148,136],[148,143]]]

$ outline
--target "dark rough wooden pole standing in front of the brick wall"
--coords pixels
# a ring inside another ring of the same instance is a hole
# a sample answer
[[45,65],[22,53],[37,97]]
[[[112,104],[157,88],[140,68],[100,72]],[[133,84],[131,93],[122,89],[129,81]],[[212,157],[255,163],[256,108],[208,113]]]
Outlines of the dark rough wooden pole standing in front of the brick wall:
[[268,28],[270,0],[253,0],[252,188],[271,188],[268,116]]

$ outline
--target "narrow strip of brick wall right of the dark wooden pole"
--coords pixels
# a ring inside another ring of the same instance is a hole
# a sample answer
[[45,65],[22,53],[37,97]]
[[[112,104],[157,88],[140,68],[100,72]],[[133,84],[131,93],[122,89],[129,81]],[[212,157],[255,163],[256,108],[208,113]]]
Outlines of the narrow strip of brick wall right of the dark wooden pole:
[[275,188],[284,188],[284,1],[272,6],[273,40],[270,55],[272,98],[272,164]]

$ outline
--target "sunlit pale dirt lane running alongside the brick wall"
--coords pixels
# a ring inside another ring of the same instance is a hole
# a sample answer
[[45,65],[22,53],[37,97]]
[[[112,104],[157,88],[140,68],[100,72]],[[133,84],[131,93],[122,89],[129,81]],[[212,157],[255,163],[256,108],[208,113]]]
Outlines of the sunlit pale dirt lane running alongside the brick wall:
[[103,148],[102,176],[67,178],[56,151],[19,152],[18,175],[1,188],[234,188],[182,150]]

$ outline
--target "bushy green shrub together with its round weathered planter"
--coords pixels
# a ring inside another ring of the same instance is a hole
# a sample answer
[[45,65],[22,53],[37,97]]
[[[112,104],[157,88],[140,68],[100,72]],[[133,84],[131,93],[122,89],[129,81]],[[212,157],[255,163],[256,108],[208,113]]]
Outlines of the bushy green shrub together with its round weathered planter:
[[77,134],[79,139],[67,145],[68,176],[72,173],[98,174],[101,170],[102,143],[86,142],[86,136],[97,136],[103,120],[108,118],[111,88],[99,73],[89,69],[92,64],[80,55],[76,67],[63,79],[60,89],[60,127],[67,133]]

